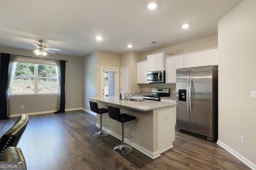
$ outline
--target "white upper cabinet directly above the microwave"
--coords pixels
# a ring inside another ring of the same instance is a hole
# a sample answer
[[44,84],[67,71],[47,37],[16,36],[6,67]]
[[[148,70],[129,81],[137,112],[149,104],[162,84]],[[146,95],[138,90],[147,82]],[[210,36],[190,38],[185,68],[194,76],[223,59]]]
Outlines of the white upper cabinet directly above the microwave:
[[148,71],[157,71],[165,69],[165,59],[164,57],[170,55],[170,53],[160,52],[152,55],[147,55],[148,57]]

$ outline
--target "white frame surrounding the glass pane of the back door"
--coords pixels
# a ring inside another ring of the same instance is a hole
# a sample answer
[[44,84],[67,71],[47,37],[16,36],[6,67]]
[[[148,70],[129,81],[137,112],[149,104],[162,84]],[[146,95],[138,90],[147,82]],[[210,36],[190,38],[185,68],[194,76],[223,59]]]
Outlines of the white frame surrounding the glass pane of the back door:
[[[119,72],[119,68],[118,67],[110,67],[110,66],[100,66],[100,96],[104,97],[104,95],[102,94],[102,91],[104,89],[104,71],[113,71],[116,72],[115,74],[115,88],[116,88],[116,92],[115,92],[115,97],[119,96],[119,88],[118,88],[118,72]],[[105,93],[104,93],[105,94]]]

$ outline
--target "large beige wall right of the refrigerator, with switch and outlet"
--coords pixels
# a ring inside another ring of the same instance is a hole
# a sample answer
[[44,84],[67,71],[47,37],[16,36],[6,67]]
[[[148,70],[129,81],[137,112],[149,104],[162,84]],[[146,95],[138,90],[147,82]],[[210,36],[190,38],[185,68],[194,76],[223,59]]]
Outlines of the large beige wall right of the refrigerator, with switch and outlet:
[[[218,141],[256,164],[256,0],[244,0],[218,22]],[[240,136],[245,137],[245,145]]]

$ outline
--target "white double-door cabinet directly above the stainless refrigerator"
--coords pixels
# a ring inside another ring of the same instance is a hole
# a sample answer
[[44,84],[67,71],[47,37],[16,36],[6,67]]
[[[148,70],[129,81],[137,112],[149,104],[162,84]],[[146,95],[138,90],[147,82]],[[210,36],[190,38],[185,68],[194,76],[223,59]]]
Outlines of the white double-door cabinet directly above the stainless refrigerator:
[[218,65],[218,48],[184,54],[184,67]]

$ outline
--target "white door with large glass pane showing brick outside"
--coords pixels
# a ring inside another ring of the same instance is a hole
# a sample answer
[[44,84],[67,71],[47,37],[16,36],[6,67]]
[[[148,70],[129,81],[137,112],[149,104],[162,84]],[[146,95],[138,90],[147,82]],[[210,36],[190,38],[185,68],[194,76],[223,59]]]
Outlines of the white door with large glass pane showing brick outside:
[[101,66],[101,97],[118,96],[118,68]]

